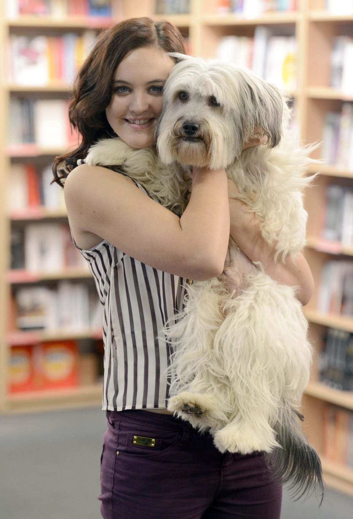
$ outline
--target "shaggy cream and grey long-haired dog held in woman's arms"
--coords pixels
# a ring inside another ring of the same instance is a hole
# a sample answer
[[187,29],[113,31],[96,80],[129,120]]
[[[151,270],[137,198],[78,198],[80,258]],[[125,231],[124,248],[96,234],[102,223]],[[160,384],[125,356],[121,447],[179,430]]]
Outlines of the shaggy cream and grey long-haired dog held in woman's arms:
[[[275,260],[286,261],[305,244],[303,188],[316,176],[305,174],[315,146],[296,143],[286,99],[273,85],[227,63],[171,56],[180,62],[166,82],[156,129],[162,163],[154,147],[135,150],[120,139],[92,146],[86,162],[121,165],[179,215],[184,169],[226,168],[263,237],[275,244]],[[186,121],[199,125],[193,138]],[[268,144],[242,152],[255,126]],[[312,347],[295,287],[272,280],[230,237],[223,274],[186,290],[184,310],[159,334],[174,350],[168,409],[209,430],[221,452],[264,451],[274,476],[291,481],[295,495],[316,482],[323,495],[320,460],[296,419]]]

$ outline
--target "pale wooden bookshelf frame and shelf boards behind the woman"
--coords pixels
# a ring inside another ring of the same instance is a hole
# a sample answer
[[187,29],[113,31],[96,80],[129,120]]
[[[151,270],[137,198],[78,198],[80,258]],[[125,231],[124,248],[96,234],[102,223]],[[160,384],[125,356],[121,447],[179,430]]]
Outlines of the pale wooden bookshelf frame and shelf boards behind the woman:
[[[114,2],[113,2],[114,3]],[[332,89],[329,86],[330,51],[332,37],[338,34],[348,34],[353,28],[353,15],[333,15],[324,11],[324,0],[298,0],[296,12],[275,12],[261,18],[245,19],[235,15],[221,16],[215,12],[216,0],[191,0],[189,14],[161,16],[154,15],[154,0],[124,0],[124,18],[134,16],[152,16],[154,18],[167,18],[188,35],[191,53],[207,58],[215,56],[216,45],[220,37],[236,34],[251,36],[256,25],[273,26],[276,34],[295,35],[297,40],[297,87],[291,92],[295,97],[296,114],[300,125],[300,134],[304,143],[321,141],[324,114],[332,108],[340,108],[342,102],[353,101],[352,93],[345,93]],[[52,17],[21,17],[19,19],[6,20],[4,16],[0,21],[0,37],[6,42],[8,34],[16,32],[36,31],[40,34],[46,30],[77,30],[87,28],[103,28],[116,23],[121,19],[116,15],[114,19],[87,19],[80,17],[52,18]],[[320,56],[320,59],[318,59]],[[65,94],[69,91],[69,85],[49,84],[45,86],[21,86],[9,84],[4,75],[5,66],[2,66],[2,78],[0,85],[0,108],[2,108],[2,121],[0,128],[0,140],[6,144],[8,128],[8,100],[11,94],[35,93],[36,95]],[[39,148],[36,145],[3,146],[0,151],[0,171],[2,176],[2,190],[0,200],[0,240],[9,243],[9,228],[14,220],[41,220],[44,218],[65,217],[64,212],[48,214],[45,211],[29,212],[22,214],[7,214],[5,193],[7,186],[7,172],[11,160],[28,158],[33,160],[42,157],[53,157],[62,153],[62,149]],[[315,152],[315,158],[320,157],[320,148]],[[342,330],[353,331],[353,319],[342,316],[322,315],[317,308],[318,286],[320,272],[323,263],[337,255],[344,254],[348,258],[353,255],[353,248],[343,248],[338,244],[323,243],[319,237],[318,214],[322,212],[323,193],[327,183],[344,181],[352,185],[353,172],[344,171],[334,165],[322,163],[319,168],[311,166],[310,171],[320,170],[321,175],[315,181],[315,186],[306,193],[306,205],[308,210],[308,240],[305,256],[309,262],[315,278],[315,294],[310,303],[304,308],[304,313],[310,321],[310,334],[319,348],[320,336],[328,326],[335,326]],[[82,405],[101,404],[101,385],[74,388],[60,392],[31,393],[28,395],[11,395],[6,393],[6,366],[8,362],[9,345],[20,344],[21,341],[30,343],[34,340],[50,340],[68,337],[97,337],[101,331],[87,330],[86,332],[61,331],[53,333],[36,333],[36,337],[28,333],[8,334],[6,329],[6,308],[9,301],[12,284],[20,282],[37,282],[37,280],[59,280],[80,277],[85,279],[90,274],[87,272],[51,272],[40,273],[31,281],[28,273],[13,273],[9,270],[9,251],[2,249],[0,254],[0,413],[31,412],[39,409],[54,409],[75,407]],[[18,276],[18,277],[16,277]],[[27,277],[26,277],[27,276]],[[27,279],[27,281],[25,281]],[[21,343],[23,344],[23,343]],[[306,426],[310,441],[313,442],[318,452],[322,454],[322,418],[320,409],[325,403],[332,403],[347,409],[353,408],[353,395],[340,392],[323,386],[318,382],[318,367],[314,362],[313,375],[303,398]],[[325,481],[332,487],[353,495],[352,470],[337,466],[332,461],[322,458]]]

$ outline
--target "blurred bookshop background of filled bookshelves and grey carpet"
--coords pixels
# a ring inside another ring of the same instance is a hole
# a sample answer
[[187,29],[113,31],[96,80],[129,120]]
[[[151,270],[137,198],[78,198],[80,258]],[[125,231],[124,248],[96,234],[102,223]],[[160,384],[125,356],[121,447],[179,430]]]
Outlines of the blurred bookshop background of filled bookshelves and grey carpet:
[[[303,308],[315,357],[303,398],[328,498],[282,518],[351,517],[353,505],[353,0],[3,0],[0,17],[0,500],[4,519],[100,517],[102,306],[72,243],[55,156],[76,147],[70,85],[98,33],[151,16],[188,53],[247,66],[290,94],[292,127],[323,159],[305,193]],[[316,172],[313,166],[310,172]],[[55,480],[55,481],[54,481]],[[166,515],[167,517],[167,515]]]

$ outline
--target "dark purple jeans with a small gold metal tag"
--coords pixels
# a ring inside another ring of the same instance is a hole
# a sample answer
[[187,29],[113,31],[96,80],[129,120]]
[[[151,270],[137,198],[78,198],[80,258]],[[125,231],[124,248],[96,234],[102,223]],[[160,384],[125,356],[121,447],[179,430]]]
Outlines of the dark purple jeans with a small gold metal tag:
[[104,519],[279,519],[282,486],[262,453],[222,454],[209,433],[171,415],[129,409],[106,417]]

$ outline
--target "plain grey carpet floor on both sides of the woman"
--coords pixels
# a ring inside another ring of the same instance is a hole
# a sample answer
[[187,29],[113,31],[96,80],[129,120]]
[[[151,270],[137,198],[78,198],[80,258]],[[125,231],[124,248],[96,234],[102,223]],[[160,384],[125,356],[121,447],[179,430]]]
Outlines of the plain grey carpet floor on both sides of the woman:
[[[0,518],[100,519],[105,420],[100,408],[0,417]],[[284,491],[281,519],[351,519],[352,510],[334,490],[320,509],[314,496],[293,502]]]

